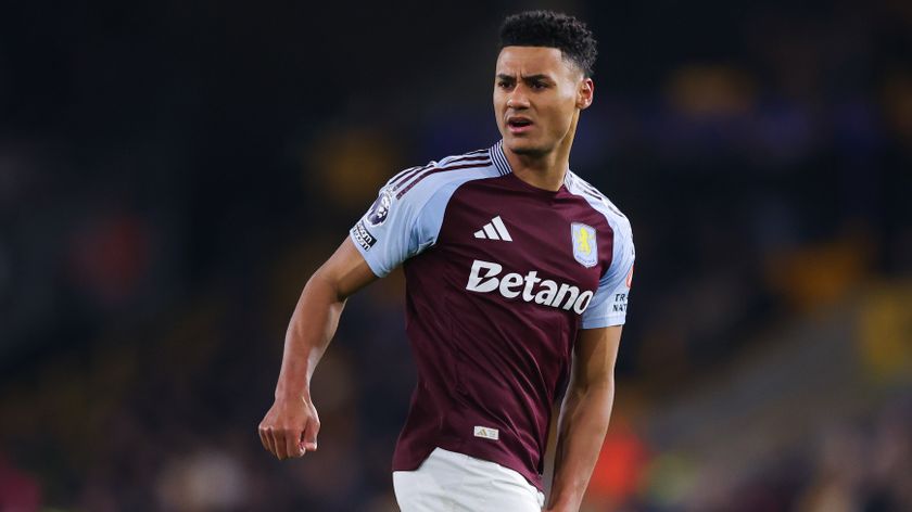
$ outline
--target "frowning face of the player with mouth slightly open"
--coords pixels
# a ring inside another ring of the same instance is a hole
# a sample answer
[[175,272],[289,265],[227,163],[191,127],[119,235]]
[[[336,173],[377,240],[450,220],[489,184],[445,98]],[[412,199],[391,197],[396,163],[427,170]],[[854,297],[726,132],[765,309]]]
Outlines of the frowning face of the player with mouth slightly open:
[[504,145],[544,155],[572,141],[581,110],[592,103],[592,79],[556,48],[505,47],[494,77],[494,115]]

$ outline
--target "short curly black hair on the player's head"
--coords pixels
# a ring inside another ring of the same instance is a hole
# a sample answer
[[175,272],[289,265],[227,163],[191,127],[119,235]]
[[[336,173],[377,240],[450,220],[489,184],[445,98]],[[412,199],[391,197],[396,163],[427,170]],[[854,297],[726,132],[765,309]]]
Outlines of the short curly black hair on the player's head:
[[598,54],[597,41],[586,24],[554,11],[525,11],[512,14],[501,25],[501,47],[557,48],[586,77],[593,74]]

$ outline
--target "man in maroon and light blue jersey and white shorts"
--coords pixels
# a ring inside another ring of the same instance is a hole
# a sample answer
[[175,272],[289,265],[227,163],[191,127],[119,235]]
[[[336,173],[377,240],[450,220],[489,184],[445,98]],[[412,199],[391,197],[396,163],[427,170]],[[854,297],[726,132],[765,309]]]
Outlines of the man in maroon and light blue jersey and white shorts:
[[259,424],[267,450],[317,449],[309,382],[345,298],[403,264],[418,384],[393,456],[400,507],[540,510],[552,406],[566,388],[547,510],[579,509],[611,413],[634,259],[626,218],[569,170],[595,54],[573,17],[505,21],[503,140],[394,176],[314,273]]

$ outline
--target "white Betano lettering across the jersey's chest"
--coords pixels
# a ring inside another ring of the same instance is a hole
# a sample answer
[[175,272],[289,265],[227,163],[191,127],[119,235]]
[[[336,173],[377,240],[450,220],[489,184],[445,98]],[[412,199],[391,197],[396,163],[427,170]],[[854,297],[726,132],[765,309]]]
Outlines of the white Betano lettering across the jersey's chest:
[[534,302],[568,311],[572,309],[578,315],[582,315],[592,300],[591,291],[581,293],[579,286],[542,279],[536,270],[531,270],[525,276],[509,272],[498,279],[503,271],[504,267],[498,264],[476,259],[466,290],[478,293],[497,291],[506,298],[521,297],[527,303]]

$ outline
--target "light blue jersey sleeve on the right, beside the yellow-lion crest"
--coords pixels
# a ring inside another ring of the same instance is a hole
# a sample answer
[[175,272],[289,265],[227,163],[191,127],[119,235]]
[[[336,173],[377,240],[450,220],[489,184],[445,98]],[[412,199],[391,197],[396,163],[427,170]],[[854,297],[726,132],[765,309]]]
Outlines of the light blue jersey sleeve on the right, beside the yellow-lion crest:
[[611,266],[598,281],[598,290],[583,311],[582,328],[597,329],[622,325],[626,319],[628,296],[633,280],[633,260],[636,252],[633,233],[626,217],[611,222],[615,244]]

